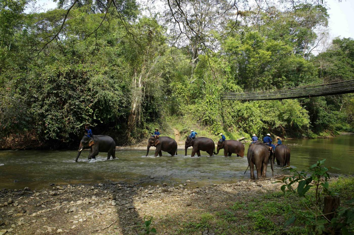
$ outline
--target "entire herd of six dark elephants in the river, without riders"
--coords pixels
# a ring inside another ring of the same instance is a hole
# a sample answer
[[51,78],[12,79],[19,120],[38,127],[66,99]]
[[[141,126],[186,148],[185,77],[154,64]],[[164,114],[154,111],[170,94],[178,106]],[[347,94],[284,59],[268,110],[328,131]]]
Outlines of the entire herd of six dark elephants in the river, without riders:
[[[162,156],[161,151],[167,152],[172,156],[177,155],[177,142],[168,136],[160,136],[159,138],[151,136],[148,141],[146,156],[149,154],[151,146],[156,147],[155,157],[157,157],[157,155]],[[200,157],[200,151],[205,151],[212,156],[213,154],[218,154],[220,149],[224,149],[225,157],[231,156],[231,154],[234,153],[238,157],[243,158],[245,153],[245,146],[240,141],[236,140],[219,141],[217,144],[217,152],[215,152],[215,143],[212,139],[207,137],[195,137],[192,139],[188,136],[184,146],[185,156],[187,155],[188,147],[191,146],[193,147],[191,157],[194,157],[195,154]],[[80,141],[75,161],[78,161],[82,149],[90,149],[89,160],[96,158],[99,152],[107,153],[107,160],[110,159],[110,156],[112,156],[113,159],[115,158],[115,142],[112,137],[107,135],[93,135],[92,137],[84,135]],[[247,161],[251,171],[251,179],[255,179],[254,166],[256,166],[257,178],[265,177],[269,160],[272,171],[274,171],[273,164],[275,159],[276,163],[281,167],[289,166],[290,149],[285,145],[279,145],[273,151],[272,147],[262,142],[250,145],[247,151]]]

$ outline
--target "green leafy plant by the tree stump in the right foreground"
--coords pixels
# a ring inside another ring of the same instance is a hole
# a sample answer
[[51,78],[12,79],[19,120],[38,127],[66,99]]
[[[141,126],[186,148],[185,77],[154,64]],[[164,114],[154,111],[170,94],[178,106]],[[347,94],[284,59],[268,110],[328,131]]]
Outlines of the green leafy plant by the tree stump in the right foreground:
[[[354,208],[341,207],[335,211],[324,214],[322,200],[324,196],[335,197],[336,194],[329,189],[328,168],[323,166],[326,159],[317,161],[316,164],[310,166],[309,171],[294,172],[292,177],[284,177],[281,181],[284,185],[281,190],[290,192],[304,198],[304,206],[309,211],[310,215],[303,211],[290,211],[290,217],[284,226],[294,223],[296,220],[306,224],[309,234],[350,234],[349,225],[354,221]],[[295,183],[298,183],[296,186]],[[310,190],[314,188],[314,190]],[[344,204],[352,204],[354,199],[345,202]]]

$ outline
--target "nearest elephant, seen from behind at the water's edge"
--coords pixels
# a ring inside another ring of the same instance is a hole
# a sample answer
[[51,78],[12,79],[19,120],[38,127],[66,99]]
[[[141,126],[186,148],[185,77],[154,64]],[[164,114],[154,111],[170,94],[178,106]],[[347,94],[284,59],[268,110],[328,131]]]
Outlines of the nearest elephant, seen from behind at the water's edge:
[[253,172],[253,165],[256,165],[257,179],[266,176],[267,166],[270,158],[270,167],[273,169],[273,148],[269,147],[265,143],[255,143],[251,145],[247,151],[247,160],[251,171],[251,180],[255,180],[255,174]]

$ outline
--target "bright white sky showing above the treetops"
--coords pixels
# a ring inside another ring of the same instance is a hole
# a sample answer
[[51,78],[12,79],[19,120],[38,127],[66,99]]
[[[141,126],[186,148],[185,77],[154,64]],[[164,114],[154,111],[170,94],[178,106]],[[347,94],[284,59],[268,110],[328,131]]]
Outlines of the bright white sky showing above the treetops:
[[[351,37],[354,39],[354,0],[326,0],[329,9],[330,39],[335,37]],[[37,4],[44,9],[56,7],[52,0],[38,0]]]

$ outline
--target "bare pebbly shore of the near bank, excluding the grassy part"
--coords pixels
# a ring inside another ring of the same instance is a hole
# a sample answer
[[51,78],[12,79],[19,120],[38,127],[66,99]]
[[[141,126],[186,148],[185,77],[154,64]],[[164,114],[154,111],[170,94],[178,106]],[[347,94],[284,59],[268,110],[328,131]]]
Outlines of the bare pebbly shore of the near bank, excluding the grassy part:
[[[142,187],[122,182],[56,186],[31,191],[0,190],[0,235],[4,234],[142,234],[144,220],[153,218],[156,234],[179,234],[182,223],[200,219],[205,212],[224,210],[279,191],[275,179],[258,182],[195,186]],[[204,229],[197,229],[201,234]]]

